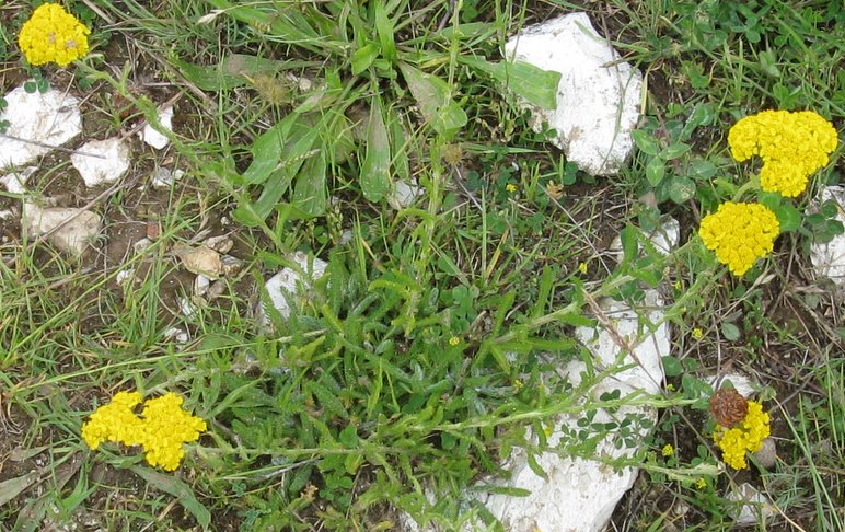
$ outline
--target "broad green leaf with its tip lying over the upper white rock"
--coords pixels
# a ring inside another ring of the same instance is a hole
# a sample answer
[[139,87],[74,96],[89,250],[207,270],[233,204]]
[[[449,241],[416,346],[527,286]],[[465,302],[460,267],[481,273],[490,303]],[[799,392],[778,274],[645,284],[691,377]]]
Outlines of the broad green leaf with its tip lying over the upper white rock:
[[544,109],[557,108],[560,73],[522,61],[489,62],[478,57],[460,57],[464,65],[481,70],[529,103]]

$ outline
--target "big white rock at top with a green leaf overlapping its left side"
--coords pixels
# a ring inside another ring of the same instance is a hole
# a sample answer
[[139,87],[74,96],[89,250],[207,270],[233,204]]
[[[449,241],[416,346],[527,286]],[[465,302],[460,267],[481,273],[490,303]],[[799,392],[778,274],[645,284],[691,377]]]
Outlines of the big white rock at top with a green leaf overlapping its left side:
[[506,57],[560,72],[557,108],[533,108],[534,130],[547,122],[553,142],[592,175],[613,175],[634,147],[643,76],[601,37],[587,13],[525,27],[505,45]]

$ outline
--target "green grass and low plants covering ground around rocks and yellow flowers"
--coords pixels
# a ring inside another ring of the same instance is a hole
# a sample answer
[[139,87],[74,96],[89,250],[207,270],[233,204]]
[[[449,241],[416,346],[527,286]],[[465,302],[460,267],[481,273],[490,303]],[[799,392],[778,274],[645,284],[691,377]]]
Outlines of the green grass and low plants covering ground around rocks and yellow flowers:
[[[808,258],[842,227],[835,208],[803,213],[842,183],[841,143],[808,192],[763,198],[789,230],[744,276],[697,236],[721,201],[756,198],[744,185],[759,163],[728,150],[738,119],[810,109],[841,129],[841,2],[71,1],[92,46],[67,68],[21,57],[38,3],[0,2],[4,93],[35,79],[84,97],[86,138],[125,134],[165,101],[176,119],[167,151],[139,143],[108,195],[45,158],[31,194],[95,200],[99,252],[70,259],[0,222],[2,528],[394,530],[402,508],[459,530],[487,519],[462,502],[467,486],[516,447],[545,449],[529,428],[640,402],[660,417],[628,462],[643,473],[620,530],[728,530],[726,493],[742,482],[778,509],[760,530],[843,529],[845,308]],[[646,80],[639,150],[613,177],[578,172],[531,130],[514,95],[547,104],[556,78],[501,58],[520,27],[576,9]],[[165,165],[186,174],[146,187]],[[392,208],[392,182],[412,177],[424,196]],[[669,256],[633,230],[661,215],[682,227]],[[131,253],[141,233],[153,243]],[[173,246],[222,233],[245,267],[186,316]],[[294,251],[328,275],[264,327],[262,279]],[[554,371],[589,358],[574,327],[595,323],[591,302],[647,286],[672,301],[663,395],[579,403]],[[777,460],[704,474],[720,464],[705,380],[729,369],[761,384]],[[126,390],[180,393],[206,420],[175,473],[81,439]],[[557,451],[590,455],[590,441]]]

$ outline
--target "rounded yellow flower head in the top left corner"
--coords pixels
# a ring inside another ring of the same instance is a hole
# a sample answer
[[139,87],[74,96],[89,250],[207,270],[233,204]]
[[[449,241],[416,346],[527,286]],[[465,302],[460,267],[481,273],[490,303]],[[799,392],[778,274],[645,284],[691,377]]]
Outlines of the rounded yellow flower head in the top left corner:
[[21,27],[18,45],[31,65],[67,67],[88,54],[91,30],[57,3],[39,5]]

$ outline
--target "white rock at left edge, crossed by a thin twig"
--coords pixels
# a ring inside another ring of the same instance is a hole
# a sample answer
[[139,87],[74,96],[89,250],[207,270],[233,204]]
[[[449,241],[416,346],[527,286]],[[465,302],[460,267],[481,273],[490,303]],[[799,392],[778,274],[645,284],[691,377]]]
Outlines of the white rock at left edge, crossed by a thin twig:
[[22,85],[5,102],[0,120],[8,120],[9,129],[0,137],[0,169],[28,164],[82,132],[79,100],[61,91],[27,93]]

